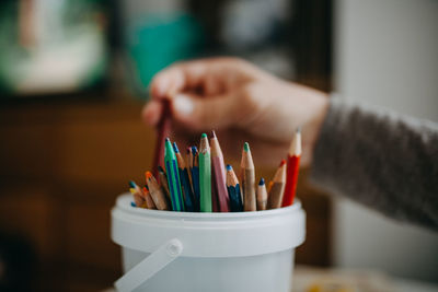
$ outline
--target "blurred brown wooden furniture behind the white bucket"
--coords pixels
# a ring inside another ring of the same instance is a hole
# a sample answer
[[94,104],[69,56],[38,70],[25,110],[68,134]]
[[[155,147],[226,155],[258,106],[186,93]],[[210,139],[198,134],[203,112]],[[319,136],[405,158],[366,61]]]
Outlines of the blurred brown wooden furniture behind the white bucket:
[[[95,291],[120,276],[110,210],[128,179],[142,182],[150,167],[154,135],[140,120],[141,107],[129,98],[83,96],[1,106],[0,234],[33,247],[35,290]],[[308,240],[297,259],[326,265],[327,205],[303,182],[298,196]]]

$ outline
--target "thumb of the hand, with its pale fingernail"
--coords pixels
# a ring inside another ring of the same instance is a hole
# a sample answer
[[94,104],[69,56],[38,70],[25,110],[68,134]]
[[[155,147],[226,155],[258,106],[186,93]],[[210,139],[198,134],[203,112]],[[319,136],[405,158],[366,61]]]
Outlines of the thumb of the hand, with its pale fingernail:
[[172,114],[175,120],[194,130],[219,129],[234,122],[237,101],[233,95],[177,94],[172,100]]

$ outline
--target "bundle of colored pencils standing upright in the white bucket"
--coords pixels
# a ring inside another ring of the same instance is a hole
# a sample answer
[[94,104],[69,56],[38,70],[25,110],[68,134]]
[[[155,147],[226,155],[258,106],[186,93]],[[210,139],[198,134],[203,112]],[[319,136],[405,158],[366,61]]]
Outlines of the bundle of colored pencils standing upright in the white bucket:
[[166,138],[164,167],[158,165],[157,177],[146,172],[143,188],[129,182],[134,197],[131,205],[186,212],[241,212],[287,207],[293,203],[300,155],[301,133],[297,130],[287,160],[281,161],[268,186],[262,177],[255,187],[255,167],[247,142],[243,145],[238,178],[233,167],[224,164],[215,131],[210,139],[203,133],[199,151],[189,147],[185,157],[177,144]]

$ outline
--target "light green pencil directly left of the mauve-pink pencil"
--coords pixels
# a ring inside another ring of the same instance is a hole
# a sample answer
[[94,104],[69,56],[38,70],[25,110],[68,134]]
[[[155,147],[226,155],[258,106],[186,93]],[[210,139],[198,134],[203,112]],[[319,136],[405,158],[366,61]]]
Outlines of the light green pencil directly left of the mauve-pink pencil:
[[199,144],[199,209],[200,212],[211,212],[211,162],[210,145],[206,133],[200,136]]

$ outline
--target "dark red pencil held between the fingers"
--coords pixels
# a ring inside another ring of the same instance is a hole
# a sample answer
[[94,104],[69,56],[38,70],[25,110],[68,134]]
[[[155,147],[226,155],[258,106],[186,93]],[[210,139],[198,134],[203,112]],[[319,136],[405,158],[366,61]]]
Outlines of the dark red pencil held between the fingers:
[[171,128],[171,106],[169,100],[163,100],[161,119],[157,126],[157,142],[153,153],[152,174],[158,177],[158,166],[164,161],[164,137],[168,137]]

